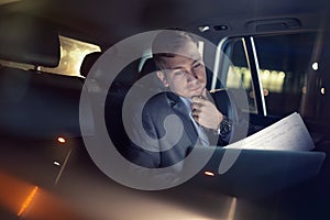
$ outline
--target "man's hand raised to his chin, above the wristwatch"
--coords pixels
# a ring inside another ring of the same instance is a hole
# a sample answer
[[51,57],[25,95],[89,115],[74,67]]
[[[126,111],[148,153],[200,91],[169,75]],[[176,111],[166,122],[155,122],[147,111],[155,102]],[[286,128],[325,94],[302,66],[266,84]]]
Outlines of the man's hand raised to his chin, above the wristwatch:
[[204,128],[217,130],[223,116],[217,107],[205,97],[193,97],[193,117]]

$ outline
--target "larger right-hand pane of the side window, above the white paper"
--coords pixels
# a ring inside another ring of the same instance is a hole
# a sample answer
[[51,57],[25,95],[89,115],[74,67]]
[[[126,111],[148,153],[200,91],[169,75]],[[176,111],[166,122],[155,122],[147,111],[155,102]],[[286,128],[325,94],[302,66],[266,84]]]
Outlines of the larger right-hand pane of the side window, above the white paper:
[[302,111],[316,33],[254,37],[268,114]]

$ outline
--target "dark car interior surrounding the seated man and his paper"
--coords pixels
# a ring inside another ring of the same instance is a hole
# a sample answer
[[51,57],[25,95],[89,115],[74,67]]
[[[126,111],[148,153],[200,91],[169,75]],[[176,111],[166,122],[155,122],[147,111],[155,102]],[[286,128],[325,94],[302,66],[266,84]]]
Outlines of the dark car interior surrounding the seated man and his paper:
[[[0,0],[0,219],[329,219],[329,12],[326,0]],[[200,37],[208,90],[243,89],[249,135],[297,112],[315,147],[245,150],[215,177],[219,150],[163,190],[109,177],[85,136],[105,123],[118,151],[128,144],[127,95],[162,86],[150,47],[128,58],[144,45],[134,40],[173,28]]]

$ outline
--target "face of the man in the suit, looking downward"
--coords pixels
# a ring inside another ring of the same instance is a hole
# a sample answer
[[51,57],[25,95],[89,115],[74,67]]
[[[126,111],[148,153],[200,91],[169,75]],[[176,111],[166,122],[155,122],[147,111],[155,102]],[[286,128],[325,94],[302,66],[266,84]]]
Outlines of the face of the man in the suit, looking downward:
[[187,42],[177,53],[180,55],[163,58],[166,69],[157,73],[158,78],[182,97],[201,96],[206,87],[206,70],[197,45]]

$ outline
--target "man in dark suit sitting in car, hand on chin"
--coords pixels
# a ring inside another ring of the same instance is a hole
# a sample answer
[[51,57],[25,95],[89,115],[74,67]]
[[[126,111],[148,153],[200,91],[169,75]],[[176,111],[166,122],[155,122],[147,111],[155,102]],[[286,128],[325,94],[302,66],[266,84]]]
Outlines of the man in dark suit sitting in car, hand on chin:
[[163,31],[152,52],[166,90],[147,100],[142,116],[134,116],[143,128],[133,127],[127,157],[143,167],[162,168],[183,161],[195,145],[228,144],[234,111],[224,90],[207,91],[197,40],[183,31]]

